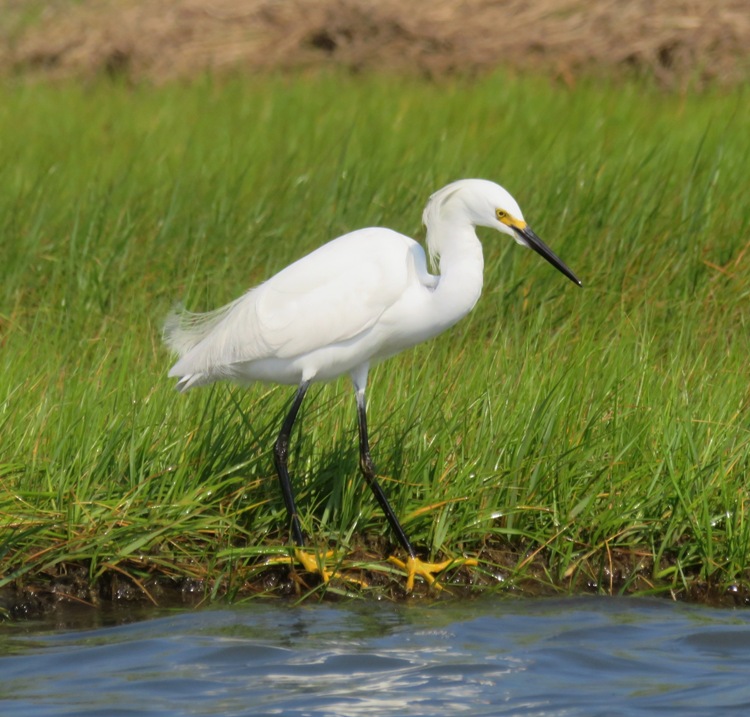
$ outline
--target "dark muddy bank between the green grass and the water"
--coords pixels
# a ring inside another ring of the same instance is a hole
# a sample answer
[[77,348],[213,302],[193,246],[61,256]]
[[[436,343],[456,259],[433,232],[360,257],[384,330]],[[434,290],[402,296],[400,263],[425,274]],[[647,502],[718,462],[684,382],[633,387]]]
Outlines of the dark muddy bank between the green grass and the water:
[[[377,544],[377,545],[376,545]],[[665,600],[680,600],[715,607],[747,607],[750,592],[746,585],[715,585],[699,575],[685,574],[681,586],[659,584],[654,579],[654,564],[645,553],[632,550],[613,550],[604,560],[592,555],[583,560],[574,574],[550,581],[550,566],[540,551],[532,556],[521,554],[508,545],[486,546],[477,557],[482,568],[457,567],[442,576],[443,591],[430,589],[418,582],[412,596],[404,591],[403,576],[393,575],[385,563],[390,548],[376,541],[368,548],[360,547],[342,563],[342,575],[364,579],[368,588],[347,585],[337,578],[326,592],[329,599],[337,599],[342,590],[354,588],[360,595],[372,599],[402,601],[408,597],[421,599],[470,599],[488,592],[515,597],[544,597],[555,595],[633,595],[647,594]],[[384,571],[361,570],[363,563],[383,562]],[[524,567],[519,571],[519,565]],[[663,568],[668,564],[665,561]],[[192,576],[189,576],[192,573]],[[215,584],[218,580],[219,584]],[[231,584],[230,584],[231,583]],[[173,569],[149,565],[147,560],[120,561],[116,570],[109,570],[95,581],[89,566],[65,563],[44,575],[19,579],[15,584],[0,588],[0,621],[38,619],[66,610],[127,609],[128,607],[196,607],[206,602],[232,602],[251,596],[268,599],[312,597],[320,599],[318,576],[307,575],[282,565],[263,564],[237,566],[233,574],[225,571],[212,575],[208,566],[191,564]],[[363,592],[364,591],[364,592]],[[209,597],[213,596],[213,597]]]

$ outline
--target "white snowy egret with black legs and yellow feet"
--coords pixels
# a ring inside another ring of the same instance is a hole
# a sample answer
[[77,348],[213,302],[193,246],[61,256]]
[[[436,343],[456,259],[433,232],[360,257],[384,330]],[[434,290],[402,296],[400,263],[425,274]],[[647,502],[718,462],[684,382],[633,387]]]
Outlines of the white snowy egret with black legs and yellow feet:
[[[165,341],[179,355],[169,371],[186,391],[220,380],[268,381],[297,386],[274,446],[274,462],[297,559],[308,570],[317,561],[302,548],[287,468],[289,437],[314,381],[348,373],[354,383],[362,474],[385,513],[406,561],[391,561],[429,584],[451,561],[420,560],[385,493],[370,456],[365,388],[370,366],[426,341],[465,316],[482,291],[484,259],[477,226],[507,234],[533,249],[571,281],[576,275],[529,228],[515,199],[483,179],[453,182],[430,197],[422,220],[427,249],[438,264],[430,274],[422,247],[390,229],[359,229],[334,239],[250,289],[223,308],[204,314],[175,312]],[[328,574],[320,570],[324,579]]]

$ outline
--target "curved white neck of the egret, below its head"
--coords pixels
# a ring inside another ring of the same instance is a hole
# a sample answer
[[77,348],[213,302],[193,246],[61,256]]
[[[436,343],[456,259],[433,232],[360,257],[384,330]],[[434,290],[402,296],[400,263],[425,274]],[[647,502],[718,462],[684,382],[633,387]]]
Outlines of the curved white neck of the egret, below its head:
[[438,232],[428,232],[427,241],[439,255],[434,299],[449,326],[468,314],[482,293],[482,244],[470,225],[442,224]]

